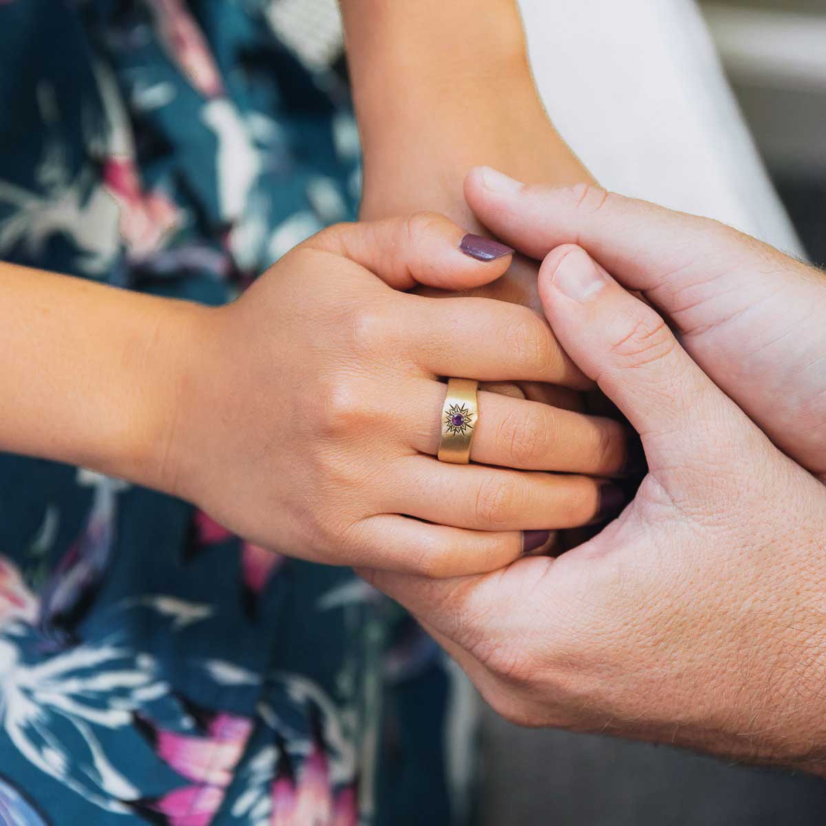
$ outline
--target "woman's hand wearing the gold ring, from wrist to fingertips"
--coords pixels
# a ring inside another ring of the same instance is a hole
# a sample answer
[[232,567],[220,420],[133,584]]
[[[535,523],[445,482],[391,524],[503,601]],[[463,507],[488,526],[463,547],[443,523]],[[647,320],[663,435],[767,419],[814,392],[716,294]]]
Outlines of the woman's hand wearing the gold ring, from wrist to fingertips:
[[604,517],[615,488],[577,474],[621,471],[618,422],[482,392],[482,464],[434,458],[439,377],[589,383],[532,311],[400,292],[508,267],[462,238],[424,214],[335,226],[234,304],[199,310],[160,487],[282,553],[429,576],[493,570]]

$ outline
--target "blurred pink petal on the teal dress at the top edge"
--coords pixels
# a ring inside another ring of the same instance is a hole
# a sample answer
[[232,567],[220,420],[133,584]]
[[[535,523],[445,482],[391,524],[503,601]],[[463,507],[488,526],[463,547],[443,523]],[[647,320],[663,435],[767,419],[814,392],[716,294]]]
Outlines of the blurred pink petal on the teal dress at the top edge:
[[221,97],[224,84],[207,43],[181,0],[152,0],[158,32],[169,57],[205,97]]

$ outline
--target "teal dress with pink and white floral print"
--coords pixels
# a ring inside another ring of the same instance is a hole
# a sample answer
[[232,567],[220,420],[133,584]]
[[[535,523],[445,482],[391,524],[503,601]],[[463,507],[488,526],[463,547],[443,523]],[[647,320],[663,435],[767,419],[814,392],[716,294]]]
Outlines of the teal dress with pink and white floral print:
[[[218,304],[351,218],[346,87],[276,7],[0,0],[0,259]],[[2,826],[455,823],[460,685],[352,573],[0,454]]]

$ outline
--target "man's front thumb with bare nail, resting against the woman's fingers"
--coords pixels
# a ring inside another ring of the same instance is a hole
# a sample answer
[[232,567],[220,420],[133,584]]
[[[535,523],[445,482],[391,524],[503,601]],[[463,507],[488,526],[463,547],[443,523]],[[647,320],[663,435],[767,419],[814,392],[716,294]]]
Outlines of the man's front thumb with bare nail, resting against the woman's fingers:
[[[563,349],[628,417],[654,470],[694,464],[727,413],[742,416],[691,360],[652,307],[619,286],[581,247],[555,249],[539,270],[539,297]],[[743,417],[744,418],[744,417]],[[714,439],[714,446],[709,444]]]

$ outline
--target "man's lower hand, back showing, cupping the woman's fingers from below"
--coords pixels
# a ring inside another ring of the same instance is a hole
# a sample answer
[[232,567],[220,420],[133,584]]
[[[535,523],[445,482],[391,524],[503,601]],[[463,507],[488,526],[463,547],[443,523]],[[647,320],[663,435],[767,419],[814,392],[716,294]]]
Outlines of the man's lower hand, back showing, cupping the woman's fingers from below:
[[[498,212],[515,216],[508,197]],[[557,559],[446,582],[365,575],[521,724],[826,771],[826,487],[583,249],[548,255],[539,291],[567,353],[642,434],[636,498]]]

